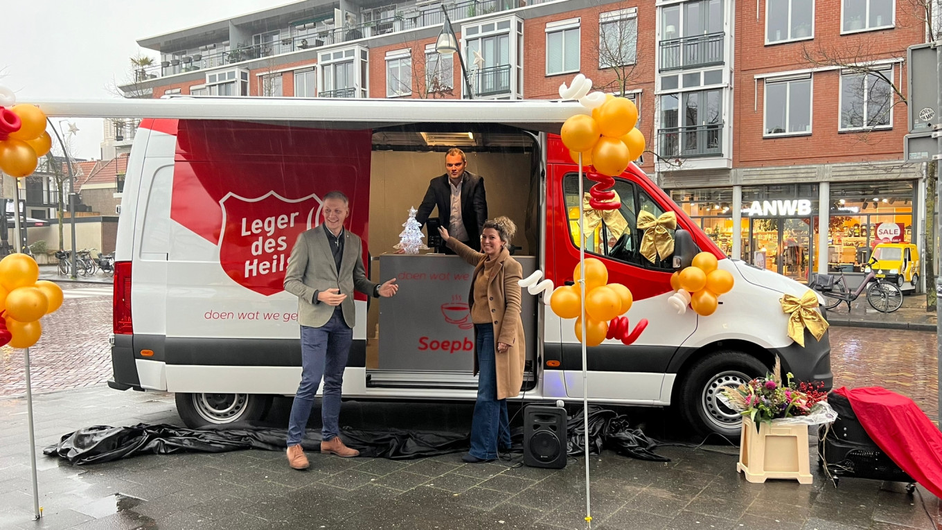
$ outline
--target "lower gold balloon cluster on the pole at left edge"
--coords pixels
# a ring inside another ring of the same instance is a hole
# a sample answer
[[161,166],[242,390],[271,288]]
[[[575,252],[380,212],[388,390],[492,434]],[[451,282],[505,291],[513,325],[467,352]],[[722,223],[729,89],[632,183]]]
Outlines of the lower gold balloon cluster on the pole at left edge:
[[25,254],[0,259],[0,346],[28,348],[40,340],[40,319],[62,306],[62,289],[40,280],[36,260]]

